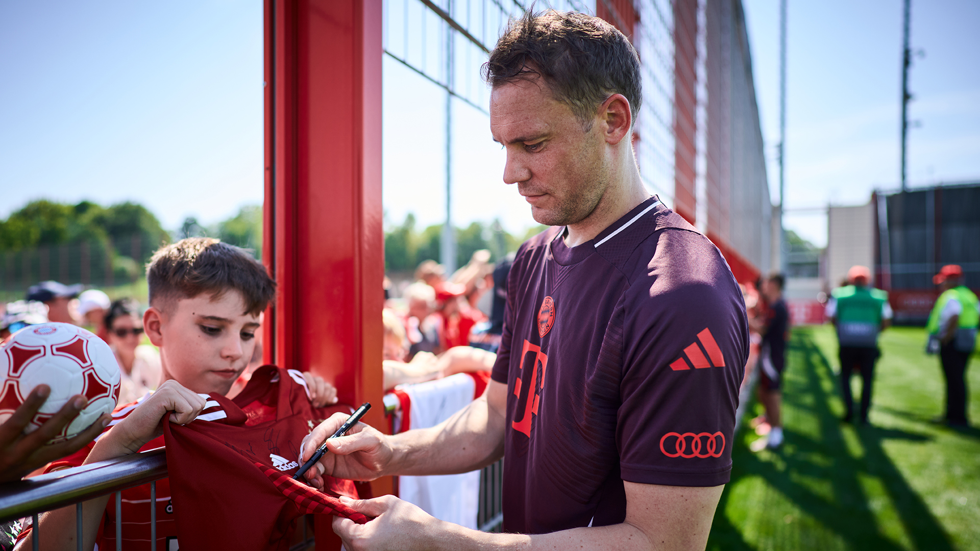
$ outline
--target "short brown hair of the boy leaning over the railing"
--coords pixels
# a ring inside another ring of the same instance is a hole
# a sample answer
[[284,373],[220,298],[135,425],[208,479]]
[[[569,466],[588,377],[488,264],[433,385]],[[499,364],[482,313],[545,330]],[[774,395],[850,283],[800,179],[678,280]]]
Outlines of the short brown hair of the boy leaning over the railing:
[[245,299],[245,312],[258,316],[275,294],[266,267],[247,251],[212,237],[188,237],[167,245],[146,266],[150,304],[209,293],[218,298],[235,289]]

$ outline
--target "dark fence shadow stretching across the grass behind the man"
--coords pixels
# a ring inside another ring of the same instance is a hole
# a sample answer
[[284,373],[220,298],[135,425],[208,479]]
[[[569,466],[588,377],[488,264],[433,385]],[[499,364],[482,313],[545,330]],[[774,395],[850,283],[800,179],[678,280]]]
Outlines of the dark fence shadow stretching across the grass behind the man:
[[[799,413],[816,417],[817,438],[784,429],[785,444],[775,452],[753,453],[748,449],[744,433],[735,438],[732,449],[732,482],[721,496],[711,527],[710,548],[755,549],[756,545],[745,540],[744,526],[735,526],[728,518],[730,487],[743,477],[760,477],[771,488],[792,501],[805,514],[832,531],[851,548],[855,549],[903,549],[881,533],[869,497],[864,493],[860,477],[880,478],[895,510],[905,526],[908,538],[917,549],[952,550],[949,534],[929,511],[921,497],[908,485],[905,476],[885,453],[882,442],[886,439],[925,441],[929,436],[893,428],[858,426],[855,432],[863,448],[863,457],[855,458],[848,450],[845,433],[840,421],[831,410],[833,398],[825,390],[825,381],[837,387],[837,376],[827,358],[813,342],[806,329],[794,331],[791,343],[791,363],[784,382],[787,393],[810,393],[812,400],[806,404],[797,399],[787,400],[791,407],[799,404]],[[800,361],[802,359],[802,362]],[[796,360],[795,362],[793,360]],[[791,394],[792,395],[792,394]],[[809,480],[809,483],[808,481]],[[820,481],[829,482],[831,498],[811,489]],[[744,509],[758,508],[760,504],[731,504]],[[778,512],[773,512],[776,515]],[[775,522],[769,520],[775,525]],[[793,529],[777,527],[775,529]],[[754,530],[761,533],[763,530]],[[804,547],[818,546],[816,540],[826,539],[821,534],[800,534]],[[783,539],[783,538],[779,538]],[[813,539],[814,541],[808,541]],[[771,544],[757,542],[759,547]]]

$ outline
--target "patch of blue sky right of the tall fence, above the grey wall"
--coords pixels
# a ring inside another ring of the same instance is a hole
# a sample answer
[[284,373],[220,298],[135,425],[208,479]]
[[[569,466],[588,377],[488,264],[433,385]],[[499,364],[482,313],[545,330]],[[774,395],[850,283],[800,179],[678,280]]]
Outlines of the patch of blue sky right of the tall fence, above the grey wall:
[[[786,205],[857,205],[900,182],[902,0],[802,2],[787,15]],[[779,1],[745,0],[762,136],[778,198]],[[980,180],[980,2],[913,0],[908,182]],[[826,243],[826,217],[788,227]]]

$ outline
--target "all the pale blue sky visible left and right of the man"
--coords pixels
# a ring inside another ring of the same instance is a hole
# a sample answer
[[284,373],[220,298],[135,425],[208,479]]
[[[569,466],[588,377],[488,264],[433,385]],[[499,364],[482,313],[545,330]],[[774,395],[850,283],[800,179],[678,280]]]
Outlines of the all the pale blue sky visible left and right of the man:
[[[777,181],[778,0],[745,0]],[[899,175],[902,2],[794,2],[789,10],[787,207],[866,201]],[[980,179],[980,3],[918,0],[911,73],[921,121],[909,180]],[[262,3],[0,3],[0,217],[26,201],[144,203],[166,227],[262,201]],[[444,209],[444,93],[384,62],[384,202],[391,222]],[[500,177],[485,115],[454,103],[457,225],[514,232],[526,205]],[[773,199],[776,194],[772,194]],[[787,223],[823,244],[819,212]]]

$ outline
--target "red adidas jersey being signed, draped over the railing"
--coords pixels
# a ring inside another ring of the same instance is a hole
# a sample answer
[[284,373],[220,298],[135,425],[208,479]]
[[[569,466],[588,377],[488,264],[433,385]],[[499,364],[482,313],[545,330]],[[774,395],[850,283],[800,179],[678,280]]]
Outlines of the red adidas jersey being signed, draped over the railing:
[[303,376],[272,366],[257,370],[234,400],[210,400],[219,405],[210,422],[164,423],[181,551],[286,550],[307,513],[368,521],[336,498],[358,497],[351,480],[327,476],[323,493],[292,479],[303,437],[334,411],[352,413],[349,406],[315,410]]

